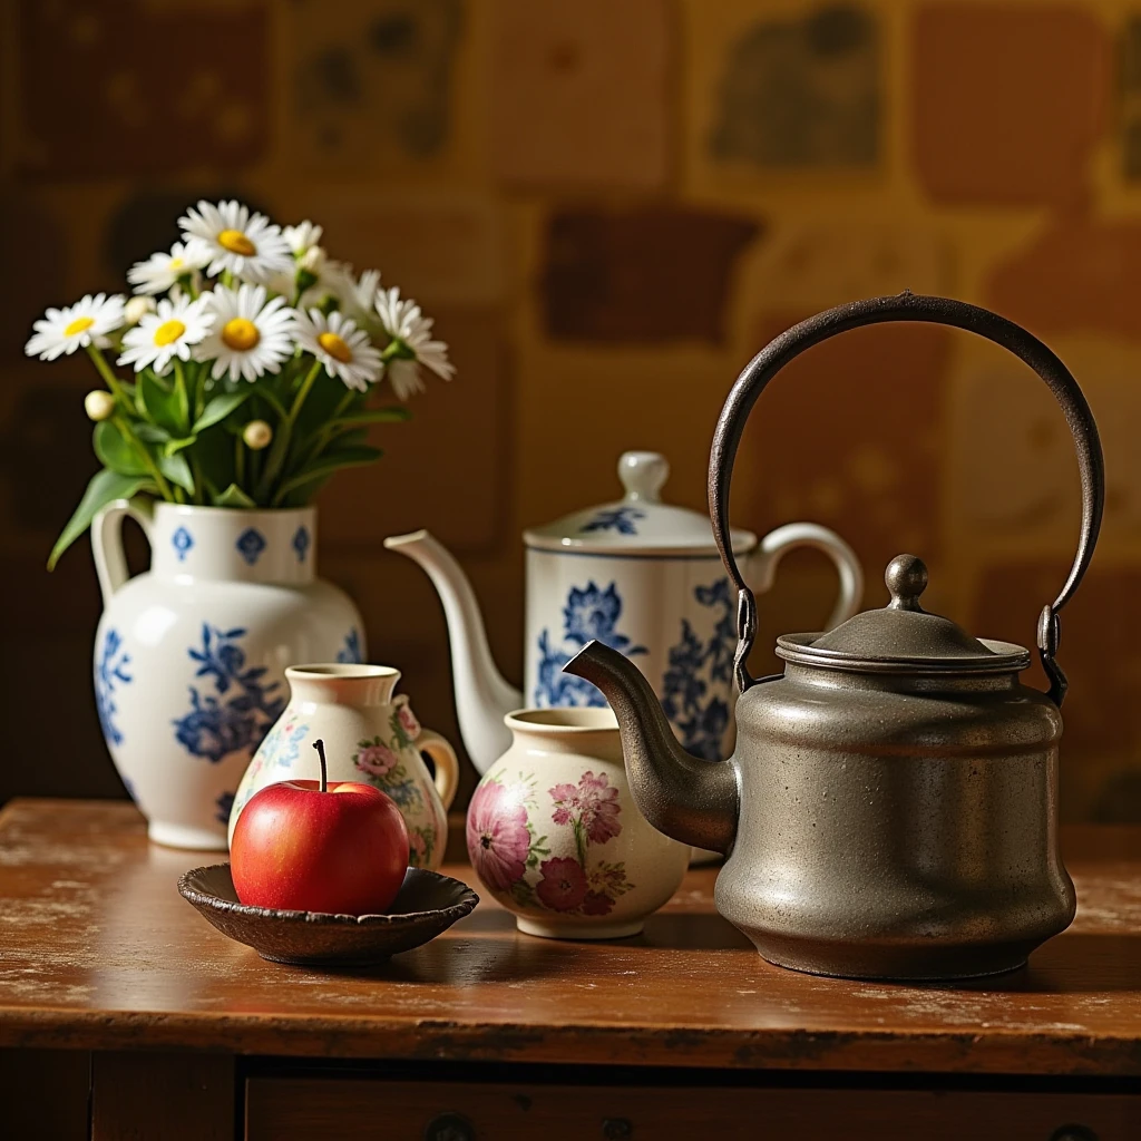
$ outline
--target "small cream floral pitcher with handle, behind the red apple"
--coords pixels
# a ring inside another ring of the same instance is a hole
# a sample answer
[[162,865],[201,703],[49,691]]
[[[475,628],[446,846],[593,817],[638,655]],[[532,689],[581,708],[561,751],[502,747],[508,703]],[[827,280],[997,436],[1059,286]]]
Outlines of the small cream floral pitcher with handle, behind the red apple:
[[[245,770],[229,816],[230,840],[256,792],[278,780],[319,777],[313,744],[321,738],[329,779],[356,780],[388,793],[408,827],[408,864],[438,868],[460,762],[444,737],[420,726],[407,696],[395,694],[399,671],[387,665],[298,665],[290,666],[285,678],[289,705]],[[435,775],[422,753],[431,759]]]

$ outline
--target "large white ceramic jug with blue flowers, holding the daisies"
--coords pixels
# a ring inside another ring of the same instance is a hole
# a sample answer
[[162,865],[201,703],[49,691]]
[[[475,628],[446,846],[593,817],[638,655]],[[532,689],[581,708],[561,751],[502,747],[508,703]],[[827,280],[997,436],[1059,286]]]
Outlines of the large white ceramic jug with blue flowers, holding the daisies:
[[[151,544],[151,569],[133,578],[128,515]],[[121,500],[96,516],[96,703],[152,840],[225,849],[238,780],[285,707],[285,667],[363,657],[361,615],[316,577],[316,545],[313,508]]]

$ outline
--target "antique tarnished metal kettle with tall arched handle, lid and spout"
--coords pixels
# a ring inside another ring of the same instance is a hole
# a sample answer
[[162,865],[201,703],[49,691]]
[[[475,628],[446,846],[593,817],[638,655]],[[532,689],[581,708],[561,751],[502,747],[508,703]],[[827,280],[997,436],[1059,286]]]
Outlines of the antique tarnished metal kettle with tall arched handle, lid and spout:
[[[1023,686],[1029,653],[972,638],[926,613],[926,568],[891,560],[891,601],[826,634],[777,641],[785,671],[750,677],[753,596],[729,542],[733,462],[753,403],[812,345],[859,325],[925,321],[1010,349],[1050,386],[1077,446],[1082,532],[1037,646],[1050,690]],[[1058,843],[1058,612],[1101,524],[1104,476],[1090,407],[1041,341],[996,314],[945,298],[876,298],[783,333],[742,372],[710,459],[710,515],[738,591],[737,747],[727,761],[683,752],[637,666],[591,642],[567,666],[607,696],[639,808],[662,832],[723,852],[717,905],[770,962],[858,978],[963,978],[1012,970],[1074,917]]]

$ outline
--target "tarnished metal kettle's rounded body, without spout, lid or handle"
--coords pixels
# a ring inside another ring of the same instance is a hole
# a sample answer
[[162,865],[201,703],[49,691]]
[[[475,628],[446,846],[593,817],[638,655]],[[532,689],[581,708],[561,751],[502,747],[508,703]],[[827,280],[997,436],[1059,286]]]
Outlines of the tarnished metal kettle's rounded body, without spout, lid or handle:
[[1013,673],[900,680],[790,664],[737,704],[717,904],[770,962],[989,974],[1074,919],[1057,706]]

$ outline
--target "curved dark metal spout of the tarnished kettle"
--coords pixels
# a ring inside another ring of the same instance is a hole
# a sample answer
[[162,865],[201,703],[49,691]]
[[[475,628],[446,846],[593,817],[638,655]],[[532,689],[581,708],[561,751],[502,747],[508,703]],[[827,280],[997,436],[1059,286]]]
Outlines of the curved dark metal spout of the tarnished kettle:
[[563,669],[592,681],[610,703],[626,778],[642,816],[674,840],[728,855],[737,832],[734,761],[687,753],[641,671],[609,646],[592,641]]

